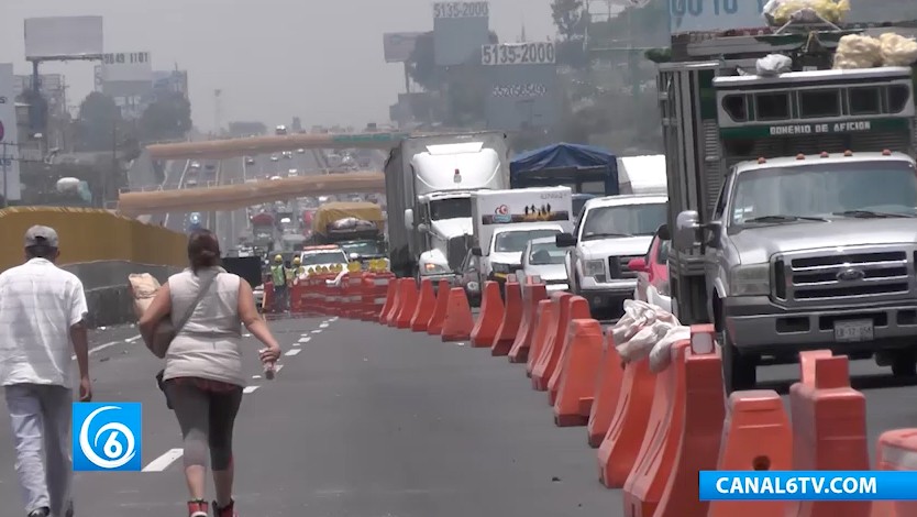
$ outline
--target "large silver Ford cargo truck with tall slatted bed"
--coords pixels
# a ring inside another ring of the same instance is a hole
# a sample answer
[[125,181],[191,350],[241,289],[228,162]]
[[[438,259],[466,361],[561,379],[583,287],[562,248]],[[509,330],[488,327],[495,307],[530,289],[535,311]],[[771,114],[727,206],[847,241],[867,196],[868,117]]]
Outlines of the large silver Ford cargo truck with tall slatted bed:
[[917,72],[835,55],[904,26],[672,37],[658,87],[673,311],[716,326],[730,392],[809,349],[917,370]]

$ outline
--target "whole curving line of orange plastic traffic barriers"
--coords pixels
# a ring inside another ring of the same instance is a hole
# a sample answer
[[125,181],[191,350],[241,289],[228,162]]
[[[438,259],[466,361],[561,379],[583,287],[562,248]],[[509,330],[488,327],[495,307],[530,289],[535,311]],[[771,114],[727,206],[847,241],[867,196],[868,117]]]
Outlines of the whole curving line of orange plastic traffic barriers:
[[[597,477],[622,490],[626,517],[917,516],[915,502],[698,501],[698,471],[870,470],[866,402],[850,386],[844,355],[800,354],[791,420],[774,391],[726,396],[710,324],[690,327],[689,339],[669,350],[667,366],[653,372],[648,360],[622,360],[585,298],[549,297],[538,277],[520,284],[510,275],[505,297],[486,283],[476,318],[464,289],[446,280],[435,294],[429,279],[418,289],[390,273],[343,278],[336,287],[329,275],[310,279],[298,307],[468,341],[524,364],[532,388],[548,394],[554,424],[586,428]],[[917,470],[917,429],[883,433],[877,452],[877,470]]]

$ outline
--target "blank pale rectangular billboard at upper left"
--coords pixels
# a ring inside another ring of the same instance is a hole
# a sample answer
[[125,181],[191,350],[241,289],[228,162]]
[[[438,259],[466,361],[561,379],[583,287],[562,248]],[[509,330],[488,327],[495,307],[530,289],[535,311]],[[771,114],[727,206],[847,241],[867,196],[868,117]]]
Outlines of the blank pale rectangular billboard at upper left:
[[97,59],[104,53],[102,16],[25,19],[25,59]]

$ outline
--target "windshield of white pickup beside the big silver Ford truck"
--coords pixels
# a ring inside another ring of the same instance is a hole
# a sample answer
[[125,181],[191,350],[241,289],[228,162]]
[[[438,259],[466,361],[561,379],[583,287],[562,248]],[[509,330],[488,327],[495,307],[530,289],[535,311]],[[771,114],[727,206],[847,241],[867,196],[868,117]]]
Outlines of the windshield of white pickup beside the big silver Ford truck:
[[581,239],[652,235],[665,224],[667,213],[669,206],[664,202],[596,207],[586,213]]

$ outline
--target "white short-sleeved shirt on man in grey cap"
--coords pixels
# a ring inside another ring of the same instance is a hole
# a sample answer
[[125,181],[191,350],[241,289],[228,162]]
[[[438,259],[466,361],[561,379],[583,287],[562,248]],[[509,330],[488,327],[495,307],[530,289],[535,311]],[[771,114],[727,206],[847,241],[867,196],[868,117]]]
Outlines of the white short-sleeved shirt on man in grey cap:
[[49,261],[0,273],[0,385],[71,387],[70,327],[88,312],[82,282]]

